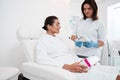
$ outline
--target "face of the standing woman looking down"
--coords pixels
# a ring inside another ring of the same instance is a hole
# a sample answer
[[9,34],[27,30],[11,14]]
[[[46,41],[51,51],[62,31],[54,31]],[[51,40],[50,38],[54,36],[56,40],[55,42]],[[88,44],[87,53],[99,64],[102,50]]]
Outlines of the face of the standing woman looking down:
[[83,12],[86,15],[87,18],[91,18],[93,14],[93,9],[89,4],[85,4],[83,6]]

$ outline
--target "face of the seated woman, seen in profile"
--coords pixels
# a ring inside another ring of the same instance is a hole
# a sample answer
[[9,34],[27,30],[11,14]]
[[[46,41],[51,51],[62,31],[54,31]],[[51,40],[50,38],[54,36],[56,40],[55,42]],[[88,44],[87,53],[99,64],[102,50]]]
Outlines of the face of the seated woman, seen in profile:
[[56,33],[59,33],[59,30],[60,22],[58,19],[55,19],[53,25],[49,25],[49,32],[54,35]]

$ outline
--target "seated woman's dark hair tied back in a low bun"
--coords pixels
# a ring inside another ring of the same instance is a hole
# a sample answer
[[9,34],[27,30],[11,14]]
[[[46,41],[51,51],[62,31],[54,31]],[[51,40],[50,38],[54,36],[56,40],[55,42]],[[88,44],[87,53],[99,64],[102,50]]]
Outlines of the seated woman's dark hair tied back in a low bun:
[[53,25],[55,19],[58,18],[56,16],[48,16],[45,19],[44,26],[42,28],[47,31],[48,30],[47,25]]

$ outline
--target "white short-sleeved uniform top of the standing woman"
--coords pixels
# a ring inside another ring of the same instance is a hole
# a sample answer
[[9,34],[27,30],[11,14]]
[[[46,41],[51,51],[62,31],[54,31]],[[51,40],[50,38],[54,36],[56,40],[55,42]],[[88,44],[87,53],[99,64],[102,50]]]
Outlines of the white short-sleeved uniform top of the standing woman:
[[[87,37],[87,40],[97,42],[98,40],[105,41],[105,31],[103,25],[98,21],[92,21],[91,18],[79,19],[74,25],[72,25],[72,34],[79,37]],[[77,55],[92,56],[98,55],[98,48],[81,48],[75,46],[75,52]]]

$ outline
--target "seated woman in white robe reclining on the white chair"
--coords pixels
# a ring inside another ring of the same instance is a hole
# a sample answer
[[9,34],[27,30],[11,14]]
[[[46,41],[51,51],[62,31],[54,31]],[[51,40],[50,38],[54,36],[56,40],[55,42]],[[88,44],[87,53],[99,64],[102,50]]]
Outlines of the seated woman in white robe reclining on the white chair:
[[36,44],[36,63],[74,72],[78,75],[78,80],[120,80],[119,69],[115,67],[96,65],[88,68],[83,65],[81,59],[56,37],[55,34],[61,28],[56,16],[47,17],[42,28],[46,30],[46,34]]

